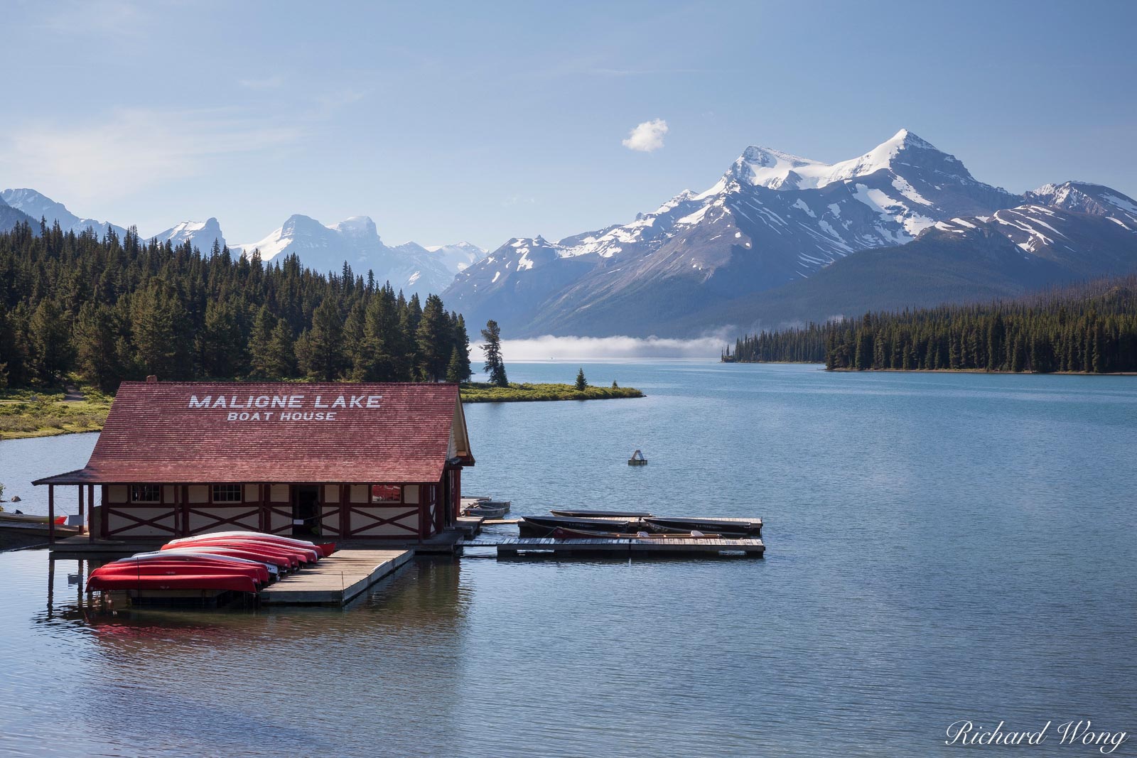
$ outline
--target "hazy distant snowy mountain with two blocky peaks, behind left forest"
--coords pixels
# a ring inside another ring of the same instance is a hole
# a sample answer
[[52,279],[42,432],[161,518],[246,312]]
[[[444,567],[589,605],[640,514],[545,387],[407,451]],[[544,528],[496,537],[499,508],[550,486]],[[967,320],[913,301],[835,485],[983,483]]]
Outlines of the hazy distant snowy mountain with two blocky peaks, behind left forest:
[[247,255],[259,250],[264,260],[294,253],[304,266],[321,273],[339,274],[347,263],[359,275],[373,270],[376,280],[390,282],[407,297],[412,292],[420,297],[441,292],[457,273],[447,266],[442,255],[415,242],[384,244],[375,222],[367,216],[352,216],[325,226],[315,218],[296,215],[263,240],[230,248]]

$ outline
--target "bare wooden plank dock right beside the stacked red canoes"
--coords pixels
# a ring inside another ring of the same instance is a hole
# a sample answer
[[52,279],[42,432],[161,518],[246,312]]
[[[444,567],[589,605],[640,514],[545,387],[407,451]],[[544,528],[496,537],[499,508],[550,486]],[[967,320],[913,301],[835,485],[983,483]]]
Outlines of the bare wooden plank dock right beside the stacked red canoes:
[[340,550],[260,591],[260,602],[343,606],[410,560],[414,550]]

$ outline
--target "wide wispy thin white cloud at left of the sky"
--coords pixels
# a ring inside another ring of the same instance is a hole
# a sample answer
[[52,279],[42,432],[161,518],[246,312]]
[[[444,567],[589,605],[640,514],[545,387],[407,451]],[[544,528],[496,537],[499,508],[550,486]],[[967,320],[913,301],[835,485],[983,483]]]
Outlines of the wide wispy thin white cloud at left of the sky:
[[119,109],[100,122],[9,126],[0,136],[0,174],[68,201],[124,197],[299,138],[299,128],[231,109]]

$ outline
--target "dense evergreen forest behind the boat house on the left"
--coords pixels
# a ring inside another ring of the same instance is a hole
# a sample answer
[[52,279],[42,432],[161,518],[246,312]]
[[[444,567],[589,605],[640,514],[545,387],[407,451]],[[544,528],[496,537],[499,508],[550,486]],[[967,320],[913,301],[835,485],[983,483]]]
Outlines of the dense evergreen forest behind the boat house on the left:
[[471,376],[465,320],[372,272],[264,263],[214,243],[122,239],[58,223],[0,233],[0,386],[75,372],[102,391],[127,378],[447,381]]

